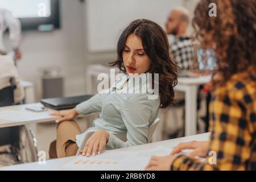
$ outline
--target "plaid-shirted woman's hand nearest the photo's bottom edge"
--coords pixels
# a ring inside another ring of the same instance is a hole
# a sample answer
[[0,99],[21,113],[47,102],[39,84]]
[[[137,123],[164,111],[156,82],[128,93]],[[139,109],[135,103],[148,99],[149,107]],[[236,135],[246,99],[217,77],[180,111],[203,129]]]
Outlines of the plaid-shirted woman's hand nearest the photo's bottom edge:
[[167,155],[163,157],[152,156],[147,164],[146,171],[170,171],[171,164],[176,159],[175,155]]

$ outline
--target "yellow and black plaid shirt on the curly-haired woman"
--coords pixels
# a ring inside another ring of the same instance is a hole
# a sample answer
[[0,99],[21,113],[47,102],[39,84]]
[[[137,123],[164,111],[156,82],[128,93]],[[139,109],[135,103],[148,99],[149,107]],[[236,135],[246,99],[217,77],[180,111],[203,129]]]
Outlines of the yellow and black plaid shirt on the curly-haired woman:
[[[256,82],[247,72],[237,73],[211,98],[209,151],[217,164],[178,156],[171,170],[256,170]],[[209,154],[209,153],[208,153]]]

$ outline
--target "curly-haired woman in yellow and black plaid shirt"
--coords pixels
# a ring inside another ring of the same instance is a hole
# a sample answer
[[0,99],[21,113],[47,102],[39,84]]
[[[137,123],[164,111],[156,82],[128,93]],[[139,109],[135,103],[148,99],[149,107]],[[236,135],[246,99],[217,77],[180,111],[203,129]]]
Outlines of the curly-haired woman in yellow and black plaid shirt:
[[[216,17],[208,15],[210,3],[217,5]],[[254,0],[202,0],[196,6],[195,38],[217,55],[210,139],[180,143],[170,156],[152,157],[146,169],[256,170],[255,12]],[[185,149],[194,151],[189,156],[176,155]],[[208,157],[200,162],[195,156]]]

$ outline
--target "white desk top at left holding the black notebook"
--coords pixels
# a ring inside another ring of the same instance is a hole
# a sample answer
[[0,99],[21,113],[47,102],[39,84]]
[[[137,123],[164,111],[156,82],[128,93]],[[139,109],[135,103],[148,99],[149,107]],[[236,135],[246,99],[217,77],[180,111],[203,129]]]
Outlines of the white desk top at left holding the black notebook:
[[[23,104],[15,106],[0,107],[0,128],[9,126],[26,125],[30,123],[55,121],[56,116],[51,116],[52,109],[47,108],[47,111],[35,112],[27,110],[27,106],[43,106],[42,104]],[[2,115],[1,115],[2,113]],[[12,114],[9,117],[9,113]],[[5,115],[5,116],[3,116]]]

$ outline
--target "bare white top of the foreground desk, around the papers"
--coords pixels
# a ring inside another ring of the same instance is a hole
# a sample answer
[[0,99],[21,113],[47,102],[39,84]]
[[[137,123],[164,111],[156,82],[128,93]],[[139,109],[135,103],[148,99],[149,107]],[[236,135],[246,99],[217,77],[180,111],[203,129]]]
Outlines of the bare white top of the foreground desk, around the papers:
[[[174,147],[177,146],[180,142],[191,142],[193,140],[209,140],[210,133],[204,133],[204,134],[198,134],[198,135],[192,135],[189,137],[183,137],[183,138],[176,138],[176,139],[171,139],[171,140],[164,140],[161,142],[155,142],[155,143],[148,143],[148,144],[143,144],[140,146],[133,146],[133,147],[127,147],[127,148],[119,148],[117,150],[112,150],[112,151],[143,151],[143,150],[148,150],[151,148],[158,147],[160,145],[166,146],[166,147]],[[111,152],[111,151],[110,151]],[[27,164],[17,164],[14,166],[7,166],[7,167],[2,167],[0,168],[0,171],[19,171],[19,170],[24,170],[24,171],[59,171],[61,170],[61,166],[64,164],[72,161],[75,159],[76,156],[68,157],[68,158],[61,158],[61,159],[51,159],[47,160],[45,165],[40,165],[37,162],[34,163],[27,163]],[[106,169],[108,170],[108,169]],[[120,169],[122,170],[122,169]]]

